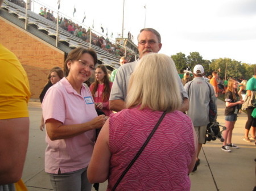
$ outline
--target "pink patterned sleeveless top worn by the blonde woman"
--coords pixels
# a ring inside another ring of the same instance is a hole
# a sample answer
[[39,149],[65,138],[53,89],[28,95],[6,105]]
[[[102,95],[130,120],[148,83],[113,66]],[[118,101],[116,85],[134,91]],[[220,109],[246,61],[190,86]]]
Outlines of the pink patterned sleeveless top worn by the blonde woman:
[[[109,120],[111,190],[146,141],[163,112],[123,109]],[[193,125],[180,111],[167,113],[117,190],[190,190],[188,165],[195,153]]]

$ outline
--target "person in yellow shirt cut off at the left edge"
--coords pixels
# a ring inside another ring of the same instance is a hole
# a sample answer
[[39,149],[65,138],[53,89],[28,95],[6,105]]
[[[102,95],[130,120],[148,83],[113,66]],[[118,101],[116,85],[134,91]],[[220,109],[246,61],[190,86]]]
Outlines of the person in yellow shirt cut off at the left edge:
[[[0,0],[0,6],[3,0]],[[15,190],[22,176],[28,146],[30,99],[26,71],[0,43],[0,190]]]

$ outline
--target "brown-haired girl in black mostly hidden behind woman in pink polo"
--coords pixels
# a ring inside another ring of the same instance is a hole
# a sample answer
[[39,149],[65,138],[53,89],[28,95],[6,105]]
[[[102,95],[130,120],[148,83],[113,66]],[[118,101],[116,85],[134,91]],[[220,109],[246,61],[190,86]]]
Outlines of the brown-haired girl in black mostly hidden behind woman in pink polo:
[[[59,82],[59,80],[61,80],[63,78],[63,70],[61,70],[60,67],[56,66],[53,67],[48,74],[48,83],[46,84],[46,86],[44,86],[43,91],[41,92],[39,98],[40,98],[40,102],[43,102],[44,99],[44,95],[46,95],[47,90],[49,89],[49,87],[51,87],[53,84]],[[44,130],[44,118],[42,115],[41,118],[41,124],[40,124],[40,130]]]

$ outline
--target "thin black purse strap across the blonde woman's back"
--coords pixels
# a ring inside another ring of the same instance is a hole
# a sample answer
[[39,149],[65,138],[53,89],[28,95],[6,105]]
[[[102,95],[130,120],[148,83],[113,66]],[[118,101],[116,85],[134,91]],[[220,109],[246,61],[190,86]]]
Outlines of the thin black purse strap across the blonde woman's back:
[[158,128],[158,126],[160,125],[160,123],[162,122],[164,116],[166,115],[166,112],[163,112],[162,116],[159,118],[158,122],[156,123],[154,129],[152,129],[150,135],[148,135],[146,141],[144,142],[144,144],[142,145],[141,149],[137,152],[137,154],[134,156],[133,160],[131,160],[130,164],[126,167],[125,171],[123,171],[122,175],[119,177],[119,179],[117,180],[117,182],[115,182],[115,185],[112,188],[112,191],[114,191],[119,182],[121,182],[121,180],[123,179],[123,177],[125,176],[125,174],[129,171],[129,169],[131,168],[131,166],[133,165],[133,163],[138,159],[139,155],[141,155],[142,151],[144,150],[144,148],[147,146],[147,143],[150,141],[151,137],[153,136],[153,134],[155,133],[156,129]]

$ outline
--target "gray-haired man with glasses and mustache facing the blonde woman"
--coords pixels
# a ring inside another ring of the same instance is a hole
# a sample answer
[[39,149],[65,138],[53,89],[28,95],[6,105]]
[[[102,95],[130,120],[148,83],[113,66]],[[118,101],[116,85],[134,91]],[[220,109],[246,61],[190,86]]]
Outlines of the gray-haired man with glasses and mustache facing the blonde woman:
[[[138,35],[138,50],[139,50],[139,57],[142,58],[147,53],[158,53],[159,50],[162,48],[161,43],[161,36],[158,31],[153,28],[143,28],[141,29]],[[121,111],[125,107],[125,99],[127,95],[127,88],[130,80],[130,76],[135,70],[135,67],[138,65],[139,60],[126,63],[119,67],[117,71],[117,75],[115,76],[115,80],[112,86],[112,90],[110,93],[109,98],[109,108],[113,111]],[[156,78],[156,77],[152,77]],[[188,95],[187,92],[184,90],[184,87],[181,83],[180,77],[177,74],[177,79],[179,82],[180,93],[183,97],[183,104],[180,108],[180,111],[187,111],[188,110]]]

